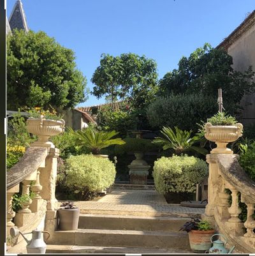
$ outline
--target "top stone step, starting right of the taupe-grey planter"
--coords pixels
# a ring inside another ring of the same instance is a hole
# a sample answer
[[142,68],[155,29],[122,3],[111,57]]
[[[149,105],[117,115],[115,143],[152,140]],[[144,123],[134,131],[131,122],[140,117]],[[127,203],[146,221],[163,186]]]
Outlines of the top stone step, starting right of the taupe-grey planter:
[[190,218],[80,214],[79,229],[178,231]]

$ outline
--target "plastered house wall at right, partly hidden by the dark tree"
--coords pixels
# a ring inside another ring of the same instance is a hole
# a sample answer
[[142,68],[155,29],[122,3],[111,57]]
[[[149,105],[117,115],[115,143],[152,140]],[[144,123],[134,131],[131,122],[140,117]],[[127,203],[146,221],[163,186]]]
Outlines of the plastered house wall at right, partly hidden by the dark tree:
[[[255,71],[255,25],[230,45],[228,54],[233,57],[234,70],[244,72],[252,66]],[[240,121],[243,124],[255,123],[255,93],[244,96],[241,105],[244,111],[242,112],[243,119]]]

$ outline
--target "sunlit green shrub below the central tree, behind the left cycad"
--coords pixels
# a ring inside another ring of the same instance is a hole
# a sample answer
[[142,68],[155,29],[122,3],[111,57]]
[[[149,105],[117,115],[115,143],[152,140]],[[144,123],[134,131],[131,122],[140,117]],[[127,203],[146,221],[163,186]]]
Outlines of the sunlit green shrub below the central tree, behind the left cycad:
[[119,132],[120,136],[127,134],[128,130],[135,129],[135,118],[128,109],[112,110],[110,106],[98,111],[99,126],[103,130]]

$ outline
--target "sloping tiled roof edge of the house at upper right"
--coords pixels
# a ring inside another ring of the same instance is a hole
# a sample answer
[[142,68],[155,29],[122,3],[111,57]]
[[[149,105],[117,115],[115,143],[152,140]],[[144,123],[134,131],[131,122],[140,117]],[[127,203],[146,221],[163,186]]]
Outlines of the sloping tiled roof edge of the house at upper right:
[[249,14],[249,16],[227,37],[225,38],[216,48],[224,48],[228,50],[230,45],[238,40],[246,31],[255,25],[255,10]]

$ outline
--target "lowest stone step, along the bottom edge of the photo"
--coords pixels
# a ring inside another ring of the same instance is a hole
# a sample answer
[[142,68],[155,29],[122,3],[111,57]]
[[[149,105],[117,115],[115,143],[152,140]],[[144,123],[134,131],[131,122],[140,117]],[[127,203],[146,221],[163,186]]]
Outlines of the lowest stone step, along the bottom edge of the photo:
[[180,254],[192,253],[185,249],[163,249],[142,247],[107,247],[107,246],[77,246],[77,245],[47,245],[46,253],[149,253],[149,254]]

